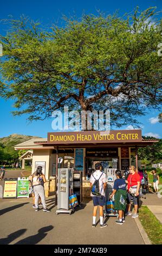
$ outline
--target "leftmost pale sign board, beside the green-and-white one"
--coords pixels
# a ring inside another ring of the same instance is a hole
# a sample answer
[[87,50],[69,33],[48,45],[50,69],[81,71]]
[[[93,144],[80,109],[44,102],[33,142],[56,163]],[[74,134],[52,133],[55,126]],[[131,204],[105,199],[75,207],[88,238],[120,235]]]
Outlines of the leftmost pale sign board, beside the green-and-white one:
[[4,179],[3,198],[17,198],[17,178]]

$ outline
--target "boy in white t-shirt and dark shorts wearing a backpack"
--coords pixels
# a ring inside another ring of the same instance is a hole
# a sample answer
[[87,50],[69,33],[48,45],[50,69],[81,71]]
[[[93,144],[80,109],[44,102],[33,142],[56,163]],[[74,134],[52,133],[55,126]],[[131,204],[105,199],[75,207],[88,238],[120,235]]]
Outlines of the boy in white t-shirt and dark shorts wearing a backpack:
[[93,199],[93,224],[92,227],[96,227],[96,213],[98,206],[100,209],[100,228],[106,228],[107,224],[103,223],[103,206],[105,205],[105,190],[107,186],[107,177],[100,169],[101,164],[95,164],[95,172],[90,176],[90,187],[92,187],[91,194]]

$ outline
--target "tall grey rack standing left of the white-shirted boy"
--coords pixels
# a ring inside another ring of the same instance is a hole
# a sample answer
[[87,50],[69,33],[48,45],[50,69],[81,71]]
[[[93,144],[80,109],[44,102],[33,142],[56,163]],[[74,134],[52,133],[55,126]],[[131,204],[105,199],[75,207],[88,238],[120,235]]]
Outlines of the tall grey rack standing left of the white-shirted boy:
[[69,196],[73,191],[73,169],[58,169],[58,186],[57,186],[57,210],[56,214],[72,214],[73,209],[69,209]]

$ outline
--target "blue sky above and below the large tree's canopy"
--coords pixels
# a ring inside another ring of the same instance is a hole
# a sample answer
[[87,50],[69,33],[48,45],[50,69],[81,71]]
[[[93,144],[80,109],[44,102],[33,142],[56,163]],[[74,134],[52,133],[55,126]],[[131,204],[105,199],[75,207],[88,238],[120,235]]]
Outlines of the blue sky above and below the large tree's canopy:
[[[106,14],[112,14],[115,10],[119,10],[119,14],[124,15],[132,11],[137,5],[141,10],[151,6],[156,6],[157,10],[162,10],[161,0],[6,0],[0,3],[0,19],[8,19],[9,15],[17,19],[24,14],[33,20],[39,20],[44,26],[50,27],[51,23],[55,22],[61,26],[63,14],[80,17],[83,13],[97,14],[97,10]],[[8,27],[0,22],[0,33],[5,35],[7,29]],[[53,131],[51,129],[52,119],[29,123],[25,115],[13,117],[11,114],[11,111],[15,110],[12,107],[13,103],[14,101],[5,101],[0,98],[0,137],[9,136],[12,133],[47,137],[47,132]],[[158,111],[153,110],[145,117],[138,119],[143,124],[142,135],[162,137],[161,124],[157,121],[158,114]],[[122,129],[125,128],[122,127]]]

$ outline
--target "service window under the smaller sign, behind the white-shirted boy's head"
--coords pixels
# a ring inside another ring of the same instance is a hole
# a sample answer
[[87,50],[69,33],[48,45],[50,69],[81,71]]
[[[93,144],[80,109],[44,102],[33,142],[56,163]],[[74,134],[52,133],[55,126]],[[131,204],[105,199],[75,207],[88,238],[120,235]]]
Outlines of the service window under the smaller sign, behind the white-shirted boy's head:
[[119,159],[116,158],[107,158],[107,159],[94,159],[94,158],[87,158],[86,159],[86,179],[90,179],[90,175],[94,171],[95,168],[95,163],[101,163],[102,170],[106,168],[114,168],[118,169],[119,168]]

